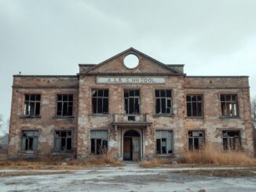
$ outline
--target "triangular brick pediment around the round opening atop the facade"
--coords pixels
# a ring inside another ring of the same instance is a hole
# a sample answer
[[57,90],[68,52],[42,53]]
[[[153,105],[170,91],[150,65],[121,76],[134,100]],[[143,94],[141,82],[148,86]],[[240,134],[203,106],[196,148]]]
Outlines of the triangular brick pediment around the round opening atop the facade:
[[[124,63],[126,56],[137,56],[138,65],[134,68],[129,68]],[[122,53],[112,56],[108,60],[104,60],[102,63],[94,65],[93,67],[87,67],[85,71],[81,71],[82,74],[172,74],[183,75],[182,71],[177,71],[170,65],[163,64],[158,60],[153,59],[150,56],[145,55],[130,48]]]

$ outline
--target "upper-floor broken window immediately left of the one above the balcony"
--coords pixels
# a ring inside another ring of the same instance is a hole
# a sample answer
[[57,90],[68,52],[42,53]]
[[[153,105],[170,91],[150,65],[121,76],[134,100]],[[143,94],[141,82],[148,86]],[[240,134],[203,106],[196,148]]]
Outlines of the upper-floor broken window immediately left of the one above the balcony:
[[93,114],[108,113],[108,89],[93,89]]

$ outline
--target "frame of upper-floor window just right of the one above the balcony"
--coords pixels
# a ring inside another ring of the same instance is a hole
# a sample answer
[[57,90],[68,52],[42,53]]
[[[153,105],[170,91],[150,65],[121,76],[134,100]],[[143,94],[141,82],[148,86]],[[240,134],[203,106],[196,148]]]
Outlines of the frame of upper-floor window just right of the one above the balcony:
[[[156,94],[155,94],[155,92],[156,91],[159,91],[159,96],[156,96]],[[161,91],[165,91],[165,95],[166,96],[161,96]],[[166,91],[170,91],[170,97],[167,97],[167,93],[166,93]],[[173,108],[173,89],[154,89],[154,98],[155,98],[155,115],[156,116],[160,116],[160,115],[163,115],[163,116],[165,116],[165,115],[173,115],[174,114],[174,108]],[[157,99],[159,99],[160,100],[160,112],[159,113],[157,113],[156,112],[156,105],[157,105]],[[162,99],[165,99],[165,103],[166,103],[166,109],[167,108],[169,108],[169,107],[167,107],[168,106],[168,100],[170,100],[170,113],[162,113]]]

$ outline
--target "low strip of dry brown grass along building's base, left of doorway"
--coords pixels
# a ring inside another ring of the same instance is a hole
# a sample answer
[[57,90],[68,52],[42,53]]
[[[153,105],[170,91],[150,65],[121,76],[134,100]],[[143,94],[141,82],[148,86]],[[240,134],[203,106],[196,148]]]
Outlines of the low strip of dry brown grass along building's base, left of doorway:
[[16,160],[16,161],[0,161],[0,169],[13,168],[13,169],[60,169],[70,170],[85,168],[93,165],[112,165],[121,166],[122,162],[110,158],[107,154],[101,157],[91,157],[85,160],[73,159],[71,161],[57,160],[55,158],[47,157],[38,160]]

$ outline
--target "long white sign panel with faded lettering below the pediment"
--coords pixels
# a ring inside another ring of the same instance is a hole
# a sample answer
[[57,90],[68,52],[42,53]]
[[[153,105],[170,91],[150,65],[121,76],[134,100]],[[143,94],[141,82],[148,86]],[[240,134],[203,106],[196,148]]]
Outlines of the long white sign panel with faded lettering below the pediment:
[[97,84],[165,84],[159,77],[97,77]]

